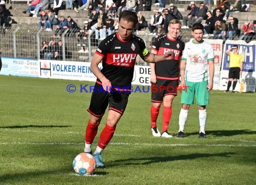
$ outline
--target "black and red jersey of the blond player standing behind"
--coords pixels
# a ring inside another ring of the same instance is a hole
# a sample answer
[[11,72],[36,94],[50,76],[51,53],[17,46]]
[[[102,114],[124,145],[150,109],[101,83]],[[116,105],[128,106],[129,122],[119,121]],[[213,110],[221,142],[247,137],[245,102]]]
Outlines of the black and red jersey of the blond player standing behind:
[[175,58],[172,60],[165,60],[155,64],[155,74],[159,79],[179,79],[179,58],[182,56],[185,43],[177,38],[172,40],[167,34],[160,35],[152,45],[152,50],[156,51],[157,54],[165,54],[173,51]]

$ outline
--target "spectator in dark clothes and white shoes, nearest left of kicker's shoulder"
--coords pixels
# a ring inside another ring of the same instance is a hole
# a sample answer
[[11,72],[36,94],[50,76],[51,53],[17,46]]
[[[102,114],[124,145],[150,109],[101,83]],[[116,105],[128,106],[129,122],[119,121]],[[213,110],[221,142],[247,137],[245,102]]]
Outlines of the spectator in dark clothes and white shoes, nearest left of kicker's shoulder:
[[[84,28],[80,30],[79,32],[79,44],[78,46],[81,46],[81,49],[78,51],[78,53],[89,53],[88,51],[88,35],[90,34],[90,28],[88,26],[88,21],[84,21]],[[86,48],[84,50],[84,48]]]

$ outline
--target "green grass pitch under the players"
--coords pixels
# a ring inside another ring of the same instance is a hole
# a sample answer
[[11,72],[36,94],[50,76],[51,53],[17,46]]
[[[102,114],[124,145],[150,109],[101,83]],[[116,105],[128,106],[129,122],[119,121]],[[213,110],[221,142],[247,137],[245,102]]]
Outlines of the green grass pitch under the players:
[[[197,106],[182,139],[155,138],[150,93],[132,93],[114,137],[102,153],[105,168],[76,176],[84,150],[91,93],[66,86],[93,82],[0,75],[0,184],[2,185],[255,185],[256,93],[211,91],[206,139],[198,139]],[[181,94],[169,132],[177,135]],[[97,137],[106,123],[103,117]],[[158,119],[162,130],[162,109]]]

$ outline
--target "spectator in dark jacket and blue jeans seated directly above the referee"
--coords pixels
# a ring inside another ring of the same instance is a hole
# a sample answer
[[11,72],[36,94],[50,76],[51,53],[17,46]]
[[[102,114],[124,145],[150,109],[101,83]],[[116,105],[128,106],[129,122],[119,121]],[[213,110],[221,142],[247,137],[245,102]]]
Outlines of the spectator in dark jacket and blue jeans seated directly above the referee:
[[[226,40],[226,36],[229,37],[230,40],[233,39],[234,35],[238,34],[238,22],[234,21],[234,17],[230,16],[229,18],[229,23],[225,28],[225,31],[223,32],[222,40]],[[236,18],[235,18],[236,19]]]

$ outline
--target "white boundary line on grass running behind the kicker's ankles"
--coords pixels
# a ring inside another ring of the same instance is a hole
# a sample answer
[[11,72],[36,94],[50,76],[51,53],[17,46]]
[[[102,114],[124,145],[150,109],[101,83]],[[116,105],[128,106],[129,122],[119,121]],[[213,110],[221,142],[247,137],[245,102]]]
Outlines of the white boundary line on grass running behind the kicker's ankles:
[[[3,142],[0,145],[84,145],[84,143],[30,143],[30,142]],[[227,145],[227,144],[154,144],[154,143],[110,143],[110,145],[148,145],[148,146],[234,146],[256,147],[256,145]]]

